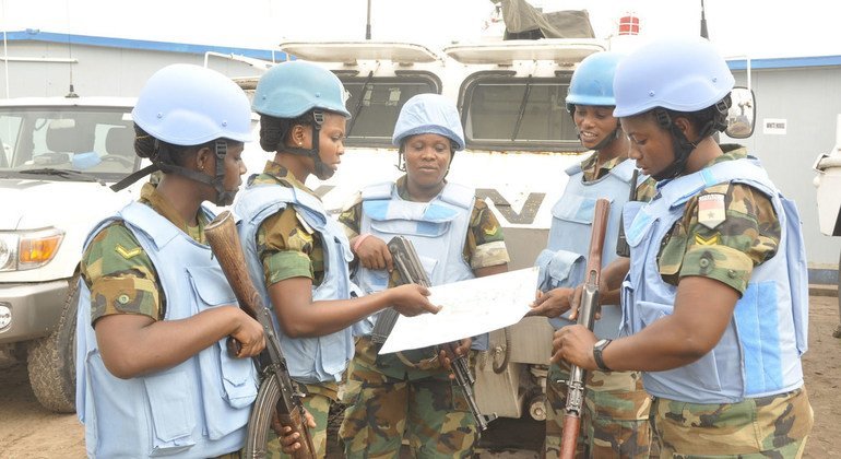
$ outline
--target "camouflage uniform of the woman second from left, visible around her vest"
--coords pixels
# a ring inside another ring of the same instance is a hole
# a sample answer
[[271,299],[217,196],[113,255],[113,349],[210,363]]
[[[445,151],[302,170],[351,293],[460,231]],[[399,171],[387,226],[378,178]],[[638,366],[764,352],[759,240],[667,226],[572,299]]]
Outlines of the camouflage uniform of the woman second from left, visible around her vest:
[[[315,193],[298,181],[285,167],[272,161],[266,162],[262,174],[250,179],[253,185],[281,185],[298,188],[310,195]],[[271,285],[292,278],[308,278],[313,285],[324,279],[324,251],[321,237],[301,223],[292,205],[266,217],[257,232],[257,256],[263,263],[265,285]],[[337,400],[336,382],[303,385],[307,396],[301,400],[304,407],[316,419],[316,428],[310,428],[316,457],[323,457],[327,451],[327,424],[330,405]],[[269,456],[288,457],[280,452],[280,442],[270,433]]]

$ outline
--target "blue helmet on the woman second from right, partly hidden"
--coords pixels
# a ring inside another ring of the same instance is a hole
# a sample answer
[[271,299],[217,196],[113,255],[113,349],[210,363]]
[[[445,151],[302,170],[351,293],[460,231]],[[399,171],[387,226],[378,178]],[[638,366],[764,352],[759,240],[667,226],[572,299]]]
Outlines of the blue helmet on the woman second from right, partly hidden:
[[616,105],[613,96],[613,75],[623,57],[624,55],[616,51],[602,51],[584,58],[569,82],[567,111],[572,114],[576,105]]

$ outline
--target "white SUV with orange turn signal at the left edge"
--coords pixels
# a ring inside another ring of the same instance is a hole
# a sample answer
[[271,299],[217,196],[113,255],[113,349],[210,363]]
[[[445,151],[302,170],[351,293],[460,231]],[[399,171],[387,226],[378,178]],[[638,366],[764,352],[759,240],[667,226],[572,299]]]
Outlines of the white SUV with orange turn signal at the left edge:
[[[92,226],[134,196],[134,99],[0,101],[0,354],[28,354],[42,404],[72,412],[75,290]],[[72,307],[63,308],[70,302]],[[62,317],[62,310],[66,310]]]

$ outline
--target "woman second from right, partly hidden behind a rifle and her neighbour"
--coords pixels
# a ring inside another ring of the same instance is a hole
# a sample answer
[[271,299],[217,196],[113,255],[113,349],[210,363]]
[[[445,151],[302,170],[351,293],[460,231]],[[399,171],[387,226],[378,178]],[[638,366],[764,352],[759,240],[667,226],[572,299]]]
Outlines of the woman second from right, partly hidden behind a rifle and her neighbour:
[[[621,55],[596,52],[581,61],[572,74],[567,95],[567,109],[572,115],[581,144],[594,150],[581,164],[566,170],[569,181],[564,196],[553,208],[548,247],[535,264],[543,273],[538,297],[530,315],[549,317],[557,329],[575,323],[565,314],[569,296],[583,281],[585,248],[590,243],[593,207],[599,198],[609,198],[612,209],[605,234],[602,260],[607,264],[617,258],[616,243],[621,207],[628,200],[633,163],[628,158],[628,138],[614,118],[613,76]],[[545,293],[541,293],[545,292]],[[616,338],[621,310],[618,290],[613,302],[602,306],[594,331],[600,338]],[[605,298],[607,299],[607,298]],[[561,316],[564,314],[564,316]],[[552,364],[546,385],[546,457],[560,454],[569,368]],[[582,425],[585,457],[649,456],[651,439],[648,412],[651,398],[642,390],[638,372],[588,372],[587,405]]]

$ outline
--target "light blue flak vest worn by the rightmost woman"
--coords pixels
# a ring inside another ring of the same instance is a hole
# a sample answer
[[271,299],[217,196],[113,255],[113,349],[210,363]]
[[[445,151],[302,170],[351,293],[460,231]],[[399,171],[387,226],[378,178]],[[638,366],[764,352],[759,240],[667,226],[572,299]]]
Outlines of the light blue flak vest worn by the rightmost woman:
[[782,228],[780,245],[771,259],[754,269],[730,326],[712,351],[689,365],[643,374],[645,390],[655,397],[734,403],[803,385],[808,281],[801,219],[794,202],[780,193],[755,158],[708,166],[666,183],[649,204],[626,205],[631,268],[623,285],[623,333],[637,333],[673,313],[677,289],[660,275],[660,244],[683,216],[686,201],[722,183],[746,184],[771,199]]

